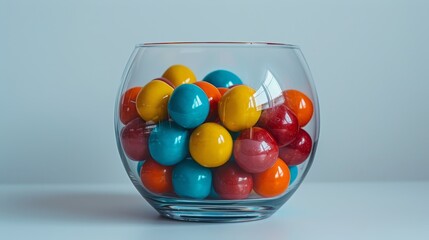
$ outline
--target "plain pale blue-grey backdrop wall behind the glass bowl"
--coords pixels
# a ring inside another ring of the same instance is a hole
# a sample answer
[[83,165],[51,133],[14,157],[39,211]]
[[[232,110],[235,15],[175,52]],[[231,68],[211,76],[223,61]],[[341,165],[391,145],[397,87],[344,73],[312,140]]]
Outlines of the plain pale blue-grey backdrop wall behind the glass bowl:
[[113,106],[136,43],[297,44],[321,136],[307,181],[429,179],[425,1],[0,0],[0,183],[125,183]]

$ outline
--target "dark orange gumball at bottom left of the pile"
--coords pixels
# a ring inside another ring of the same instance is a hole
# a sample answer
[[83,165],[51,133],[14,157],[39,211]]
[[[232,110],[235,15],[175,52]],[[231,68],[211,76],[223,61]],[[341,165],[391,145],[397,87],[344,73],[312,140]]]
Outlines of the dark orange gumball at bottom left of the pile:
[[163,166],[152,159],[144,162],[140,171],[143,186],[153,193],[172,193],[171,181],[173,167]]

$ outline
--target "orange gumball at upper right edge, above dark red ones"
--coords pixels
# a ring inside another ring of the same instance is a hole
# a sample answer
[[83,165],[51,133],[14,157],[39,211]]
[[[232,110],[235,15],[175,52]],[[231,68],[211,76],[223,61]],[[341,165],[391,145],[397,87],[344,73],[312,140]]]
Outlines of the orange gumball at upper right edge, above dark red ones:
[[286,90],[283,92],[285,105],[288,106],[298,118],[300,127],[304,127],[313,116],[313,102],[304,93],[298,90]]

